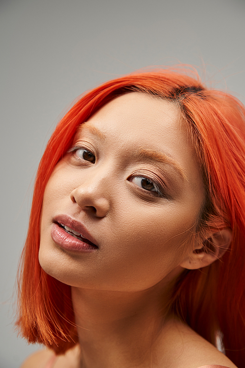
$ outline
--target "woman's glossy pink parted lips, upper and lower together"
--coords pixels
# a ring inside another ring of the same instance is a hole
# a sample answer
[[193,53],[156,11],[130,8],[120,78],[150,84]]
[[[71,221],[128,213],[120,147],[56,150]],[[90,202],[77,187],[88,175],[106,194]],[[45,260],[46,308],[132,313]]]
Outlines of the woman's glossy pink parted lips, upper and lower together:
[[84,225],[68,215],[54,218],[50,235],[57,245],[68,251],[93,252],[98,249]]

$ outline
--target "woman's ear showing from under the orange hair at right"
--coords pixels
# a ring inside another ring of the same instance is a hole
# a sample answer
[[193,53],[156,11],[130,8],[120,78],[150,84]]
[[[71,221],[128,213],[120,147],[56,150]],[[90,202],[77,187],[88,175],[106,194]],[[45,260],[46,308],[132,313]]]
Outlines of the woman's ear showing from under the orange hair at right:
[[232,231],[224,228],[209,234],[202,242],[201,247],[198,244],[192,254],[185,258],[180,264],[187,269],[197,269],[215,262],[227,251],[232,240]]

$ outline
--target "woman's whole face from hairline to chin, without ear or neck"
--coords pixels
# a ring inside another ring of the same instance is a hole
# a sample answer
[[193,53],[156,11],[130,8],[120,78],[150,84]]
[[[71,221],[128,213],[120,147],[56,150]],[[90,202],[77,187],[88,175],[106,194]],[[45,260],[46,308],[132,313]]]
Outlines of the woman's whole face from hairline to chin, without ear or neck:
[[169,282],[192,253],[203,201],[178,108],[125,94],[78,129],[54,169],[43,201],[40,264],[85,289],[139,291]]

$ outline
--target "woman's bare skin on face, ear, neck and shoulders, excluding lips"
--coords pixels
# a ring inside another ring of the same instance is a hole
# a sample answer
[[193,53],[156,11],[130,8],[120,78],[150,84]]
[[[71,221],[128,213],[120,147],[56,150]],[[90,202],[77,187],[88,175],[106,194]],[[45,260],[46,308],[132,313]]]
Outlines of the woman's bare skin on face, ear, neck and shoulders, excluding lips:
[[[46,187],[39,260],[72,286],[81,350],[54,367],[235,368],[168,311],[181,272],[216,261],[231,240],[228,229],[207,234],[216,253],[195,252],[205,189],[177,106],[138,92],[120,96],[78,129],[69,151]],[[56,244],[50,232],[60,214],[80,221],[98,249]],[[45,367],[51,352],[36,354],[23,368],[35,359]]]

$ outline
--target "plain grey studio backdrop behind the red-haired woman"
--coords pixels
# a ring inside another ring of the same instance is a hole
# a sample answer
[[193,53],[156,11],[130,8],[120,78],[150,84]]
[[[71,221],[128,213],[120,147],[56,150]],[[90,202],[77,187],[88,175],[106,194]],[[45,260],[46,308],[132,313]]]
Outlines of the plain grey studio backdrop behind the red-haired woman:
[[205,64],[245,103],[245,0],[1,0],[0,368],[37,346],[12,325],[33,178],[51,131],[85,90],[149,65]]

